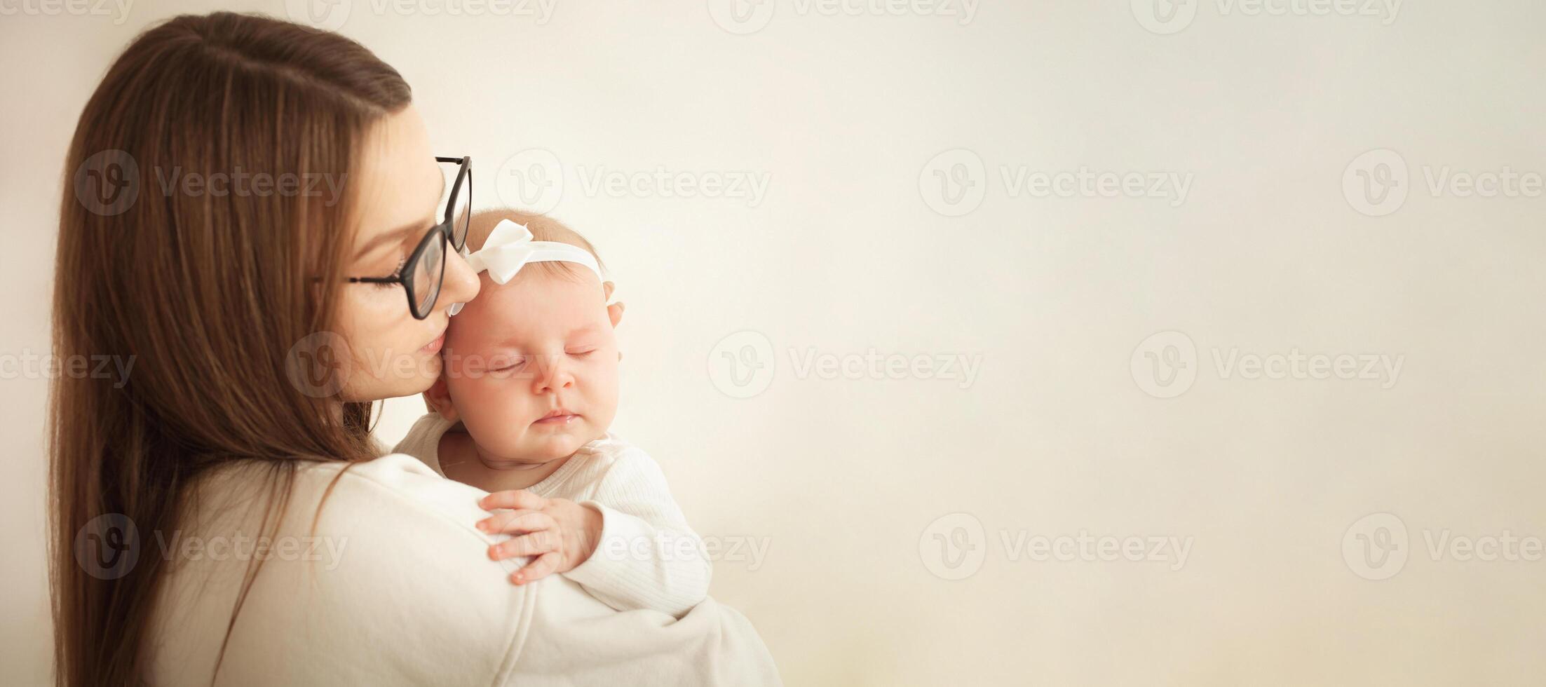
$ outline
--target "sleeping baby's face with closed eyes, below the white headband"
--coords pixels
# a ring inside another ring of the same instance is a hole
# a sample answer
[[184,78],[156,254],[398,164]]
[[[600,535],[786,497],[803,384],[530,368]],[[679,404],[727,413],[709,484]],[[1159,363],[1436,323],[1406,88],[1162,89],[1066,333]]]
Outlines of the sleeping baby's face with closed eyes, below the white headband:
[[485,460],[547,463],[606,435],[617,357],[600,279],[529,266],[451,317],[445,385]]

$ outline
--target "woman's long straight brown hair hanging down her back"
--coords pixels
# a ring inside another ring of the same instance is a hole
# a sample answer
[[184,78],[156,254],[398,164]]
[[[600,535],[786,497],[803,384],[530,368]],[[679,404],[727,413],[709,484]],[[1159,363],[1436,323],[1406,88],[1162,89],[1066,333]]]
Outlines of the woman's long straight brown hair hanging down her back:
[[[271,512],[283,512],[298,460],[374,458],[369,404],[289,376],[297,342],[335,331],[331,275],[352,243],[357,193],[284,192],[283,175],[342,184],[368,127],[410,97],[349,39],[229,12],[147,29],[91,94],[65,164],[54,353],[133,367],[122,384],[60,374],[49,398],[57,684],[145,679],[169,563],[144,543],[178,528],[201,473],[255,466]],[[263,173],[266,187],[252,183]],[[186,175],[209,184],[167,186]],[[77,538],[102,517],[138,532],[127,545],[147,555],[127,571],[77,563]]]

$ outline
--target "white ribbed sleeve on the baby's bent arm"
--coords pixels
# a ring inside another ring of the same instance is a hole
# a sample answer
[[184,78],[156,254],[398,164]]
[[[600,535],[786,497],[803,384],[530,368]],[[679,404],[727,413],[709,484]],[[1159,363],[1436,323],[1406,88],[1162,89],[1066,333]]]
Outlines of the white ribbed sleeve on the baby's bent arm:
[[708,596],[713,569],[703,540],[649,455],[631,446],[621,450],[594,494],[580,503],[601,511],[601,538],[566,577],[618,611],[649,608],[682,617]]

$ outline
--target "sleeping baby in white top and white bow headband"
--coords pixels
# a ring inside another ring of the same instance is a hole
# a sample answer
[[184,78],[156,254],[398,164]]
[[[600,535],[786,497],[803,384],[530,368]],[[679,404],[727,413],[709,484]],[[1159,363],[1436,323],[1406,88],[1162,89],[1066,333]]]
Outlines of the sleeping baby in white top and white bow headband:
[[623,306],[595,251],[513,210],[473,215],[467,248],[482,289],[451,306],[431,412],[394,450],[509,509],[478,528],[512,535],[490,557],[530,557],[515,583],[557,572],[620,611],[680,617],[708,594],[710,562],[660,466],[608,432]]

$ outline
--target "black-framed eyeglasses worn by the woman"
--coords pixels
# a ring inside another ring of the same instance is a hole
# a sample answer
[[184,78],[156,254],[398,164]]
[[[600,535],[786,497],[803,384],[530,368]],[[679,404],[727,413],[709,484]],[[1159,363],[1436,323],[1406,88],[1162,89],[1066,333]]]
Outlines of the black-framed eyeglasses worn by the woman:
[[419,244],[391,277],[349,277],[349,283],[400,283],[408,294],[408,311],[422,320],[434,311],[445,282],[445,246],[461,251],[467,244],[467,227],[472,223],[473,170],[472,156],[434,158],[436,162],[456,164],[456,181],[445,200],[445,218],[430,227]]

